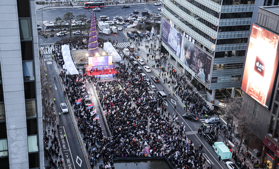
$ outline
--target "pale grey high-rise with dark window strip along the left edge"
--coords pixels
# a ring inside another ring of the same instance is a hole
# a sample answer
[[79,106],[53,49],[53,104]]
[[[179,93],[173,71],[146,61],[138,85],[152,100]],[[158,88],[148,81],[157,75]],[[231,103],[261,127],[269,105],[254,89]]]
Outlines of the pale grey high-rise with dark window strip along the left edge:
[[0,168],[43,169],[35,0],[0,0]]

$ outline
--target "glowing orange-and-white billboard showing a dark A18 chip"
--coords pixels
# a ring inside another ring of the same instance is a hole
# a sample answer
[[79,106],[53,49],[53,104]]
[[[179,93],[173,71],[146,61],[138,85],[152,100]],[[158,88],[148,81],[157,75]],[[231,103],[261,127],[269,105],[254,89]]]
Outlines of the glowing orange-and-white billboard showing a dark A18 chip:
[[241,89],[270,109],[279,61],[279,36],[253,24]]

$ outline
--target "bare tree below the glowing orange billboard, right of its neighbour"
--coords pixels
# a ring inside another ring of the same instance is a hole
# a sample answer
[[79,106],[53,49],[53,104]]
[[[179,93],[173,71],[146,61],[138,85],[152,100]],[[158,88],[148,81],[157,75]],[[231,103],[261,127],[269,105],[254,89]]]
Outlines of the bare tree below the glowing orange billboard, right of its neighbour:
[[236,118],[238,119],[238,132],[241,133],[240,145],[243,139],[247,140],[247,151],[249,149],[251,134],[259,124],[259,120],[255,116],[254,109],[248,108],[248,106],[243,106],[239,113],[236,114]]

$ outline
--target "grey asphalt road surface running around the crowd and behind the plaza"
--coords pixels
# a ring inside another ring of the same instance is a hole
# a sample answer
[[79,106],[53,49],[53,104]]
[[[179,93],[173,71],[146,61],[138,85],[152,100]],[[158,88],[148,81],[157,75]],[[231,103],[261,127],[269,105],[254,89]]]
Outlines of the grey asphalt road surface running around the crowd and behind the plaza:
[[[122,16],[123,18],[125,18],[125,10],[126,10],[126,17],[128,17],[128,14],[133,10],[138,10],[140,12],[147,11],[147,10],[158,12],[158,10],[157,10],[158,7],[160,7],[160,6],[154,6],[153,3],[152,4],[131,5],[131,7],[127,8],[127,9],[121,9],[120,5],[119,5],[119,7],[118,6],[108,6],[108,7],[106,6],[106,7],[102,8],[102,10],[100,12],[96,12],[96,14],[97,14],[97,17],[100,15],[106,15],[106,16],[110,17],[110,19],[112,19],[113,16],[116,16],[116,15]],[[142,9],[144,9],[144,10],[142,10]],[[74,16],[77,16],[79,14],[86,14],[88,18],[91,16],[91,13],[88,11],[88,9],[83,9],[83,8],[74,8],[74,9],[72,9],[72,8],[63,8],[63,9],[46,8],[46,9],[42,9],[43,20],[54,21],[56,17],[63,17],[63,14],[66,13],[67,11],[72,12]],[[41,10],[37,10],[38,23],[41,23],[41,20],[42,20],[40,12],[41,12]],[[124,43],[123,43],[123,37],[124,37]],[[49,44],[55,43],[57,40],[60,40],[60,38],[61,37],[53,37],[53,38],[46,39],[46,38],[40,36],[40,45],[49,46]],[[104,39],[111,38],[112,41],[117,40],[119,43],[122,43],[124,46],[127,46],[127,44],[128,44],[128,40],[123,35],[123,31],[118,32],[117,36],[103,36],[103,38]],[[127,64],[129,61],[125,60],[125,62]],[[55,69],[53,67],[53,64],[51,64],[51,65],[46,64],[46,65],[47,65],[48,75],[56,76],[56,79],[58,79]],[[148,63],[145,63],[145,65],[151,67],[151,65],[148,65]],[[140,65],[140,67],[142,67],[142,69],[143,69],[143,66]],[[51,72],[53,72],[53,75]],[[151,80],[151,78],[150,78],[151,76],[157,76],[157,74],[155,74],[153,70],[150,73],[146,73],[143,69],[143,73],[145,73],[147,75],[147,78],[150,80]],[[55,104],[56,104],[56,107],[59,109],[60,103],[66,102],[66,101],[65,101],[64,95],[62,94],[62,89],[59,84],[59,81],[57,81],[55,85],[57,87]],[[169,88],[165,84],[162,83],[162,80],[159,83],[156,83],[156,84],[153,83],[153,85],[155,85],[157,87],[157,91],[163,90],[163,88],[165,88],[166,94],[168,94],[169,92],[173,93],[172,91],[169,90]],[[223,162],[219,162],[217,160],[217,154],[210,147],[210,145],[206,142],[206,140],[204,138],[201,138],[199,135],[197,135],[197,130],[198,130],[199,126],[203,125],[205,118],[199,117],[199,120],[197,122],[193,122],[188,119],[183,119],[182,115],[184,113],[186,113],[186,111],[184,110],[184,105],[182,105],[180,103],[180,101],[174,96],[171,96],[171,98],[167,98],[167,100],[164,101],[164,105],[167,107],[167,111],[170,112],[172,117],[174,116],[173,113],[177,114],[180,124],[183,122],[184,125],[186,125],[185,132],[188,136],[188,139],[193,141],[193,143],[195,144],[195,147],[198,148],[201,144],[204,145],[204,149],[201,153],[204,154],[203,157],[207,159],[208,164],[213,165],[214,169],[225,168],[225,164]],[[174,109],[175,105],[176,105],[176,109]],[[86,169],[87,164],[85,162],[84,155],[83,155],[83,152],[82,152],[82,149],[80,146],[80,142],[79,142],[77,134],[76,134],[76,129],[74,128],[74,125],[73,125],[72,118],[74,118],[74,117],[71,117],[70,113],[62,114],[61,117],[62,118],[61,118],[60,124],[59,124],[59,126],[61,128],[59,129],[59,132],[62,132],[62,134],[63,134],[63,132],[66,132],[67,138],[71,138],[70,140],[66,139],[68,141],[67,142],[68,147],[66,147],[65,153],[68,153],[68,154],[65,154],[65,155],[63,154],[64,158],[66,159],[66,157],[65,157],[66,155],[68,155],[68,157],[70,157],[70,155],[71,155],[71,158],[69,158],[69,161],[71,164],[75,164],[74,166],[76,169],[78,169],[78,167],[79,167],[78,162],[80,162],[80,161],[82,162],[81,163],[82,169]],[[67,162],[67,161],[65,160],[65,162]]]

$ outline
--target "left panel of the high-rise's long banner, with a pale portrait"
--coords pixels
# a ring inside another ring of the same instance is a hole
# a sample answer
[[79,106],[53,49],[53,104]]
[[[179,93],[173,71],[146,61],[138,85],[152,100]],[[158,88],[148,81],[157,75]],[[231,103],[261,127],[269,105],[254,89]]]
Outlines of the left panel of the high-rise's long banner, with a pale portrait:
[[180,58],[182,35],[163,18],[162,19],[162,41]]

